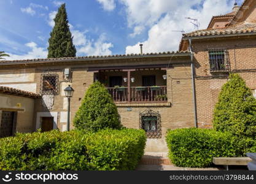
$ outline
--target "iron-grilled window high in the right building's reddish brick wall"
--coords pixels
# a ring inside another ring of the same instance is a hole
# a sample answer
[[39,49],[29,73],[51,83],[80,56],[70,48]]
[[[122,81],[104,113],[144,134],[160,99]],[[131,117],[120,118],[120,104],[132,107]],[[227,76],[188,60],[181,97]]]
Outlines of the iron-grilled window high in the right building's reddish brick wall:
[[223,48],[209,49],[209,62],[212,72],[228,71],[228,54]]

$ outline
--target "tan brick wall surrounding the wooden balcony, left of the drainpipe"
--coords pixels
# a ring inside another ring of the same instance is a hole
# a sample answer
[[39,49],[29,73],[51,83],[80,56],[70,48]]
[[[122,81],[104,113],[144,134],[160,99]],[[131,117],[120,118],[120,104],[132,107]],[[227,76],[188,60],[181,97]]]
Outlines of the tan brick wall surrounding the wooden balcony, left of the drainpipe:
[[[168,66],[169,58],[157,58],[157,59],[142,59],[141,61],[125,61],[128,64],[166,64]],[[173,58],[171,62],[173,62],[173,67],[166,70],[144,70],[144,71],[134,71],[131,72],[131,77],[135,78],[135,83],[132,83],[132,86],[140,86],[141,85],[141,77],[142,75],[156,75],[157,85],[167,85],[168,89],[168,103],[154,103],[154,104],[125,104],[126,106],[118,105],[118,112],[120,113],[122,124],[129,128],[139,128],[139,113],[152,109],[154,111],[158,111],[161,115],[161,133],[162,137],[165,137],[167,129],[174,128],[183,128],[183,127],[191,127],[194,122],[194,114],[193,114],[193,99],[192,99],[192,80],[191,80],[191,68],[190,64],[185,64],[190,61],[190,58]],[[180,64],[174,64],[180,63]],[[182,64],[184,63],[184,64]],[[94,66],[122,66],[124,61],[109,61],[106,64],[104,61],[102,64],[95,63]],[[172,63],[171,63],[172,64]],[[92,65],[92,64],[91,64]],[[39,120],[37,117],[39,114],[47,114],[56,116],[56,124],[57,128],[61,131],[66,129],[66,121],[67,121],[67,99],[64,96],[64,88],[69,84],[74,88],[74,95],[71,98],[71,129],[72,120],[74,118],[75,113],[80,107],[82,99],[88,86],[93,83],[94,73],[88,72],[88,66],[90,64],[80,64],[80,65],[66,65],[66,66],[37,66],[31,67],[27,69],[2,69],[1,72],[8,72],[12,74],[12,72],[20,70],[20,73],[29,73],[33,75],[31,80],[29,78],[29,82],[15,82],[15,84],[23,84],[23,83],[34,83],[36,84],[36,93],[40,93],[41,86],[41,75],[45,73],[48,69],[51,70],[52,73],[58,74],[60,80],[60,93],[54,96],[54,103],[52,109],[46,109],[42,105],[42,99],[35,99],[34,106],[34,117],[31,118],[33,120],[33,129],[36,130],[36,123]],[[66,67],[71,67],[72,69],[72,80],[67,82],[63,78],[63,69]],[[107,72],[111,75],[120,75],[120,72]],[[126,72],[121,72],[123,76],[126,75]],[[168,79],[163,80],[163,75],[167,74]],[[126,77],[126,76],[125,76]],[[7,84],[12,84],[12,82],[7,82]],[[131,107],[131,111],[127,110],[128,107]],[[20,119],[24,117],[20,116]],[[18,121],[24,121],[24,120]]]

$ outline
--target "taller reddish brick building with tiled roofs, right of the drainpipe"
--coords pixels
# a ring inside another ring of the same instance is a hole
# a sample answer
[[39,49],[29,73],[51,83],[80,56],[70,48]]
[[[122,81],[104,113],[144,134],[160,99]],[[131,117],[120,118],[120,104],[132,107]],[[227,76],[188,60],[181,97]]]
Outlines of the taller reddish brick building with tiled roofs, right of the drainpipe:
[[180,50],[193,52],[198,126],[212,126],[220,88],[235,72],[256,89],[256,1],[237,4],[233,12],[212,17],[208,29],[184,34]]

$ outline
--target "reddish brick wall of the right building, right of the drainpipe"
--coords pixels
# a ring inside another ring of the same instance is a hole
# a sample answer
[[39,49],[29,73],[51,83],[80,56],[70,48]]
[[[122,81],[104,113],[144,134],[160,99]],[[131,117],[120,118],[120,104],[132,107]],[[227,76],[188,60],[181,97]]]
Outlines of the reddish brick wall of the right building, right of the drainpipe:
[[[246,80],[247,86],[256,89],[256,44],[255,37],[240,39],[211,39],[192,41],[196,62],[196,104],[198,107],[198,125],[212,127],[212,115],[220,89],[227,82],[228,73],[212,74],[209,65],[209,48],[228,50],[231,72],[236,72]],[[248,71],[247,69],[254,69]],[[241,71],[242,70],[242,71]]]

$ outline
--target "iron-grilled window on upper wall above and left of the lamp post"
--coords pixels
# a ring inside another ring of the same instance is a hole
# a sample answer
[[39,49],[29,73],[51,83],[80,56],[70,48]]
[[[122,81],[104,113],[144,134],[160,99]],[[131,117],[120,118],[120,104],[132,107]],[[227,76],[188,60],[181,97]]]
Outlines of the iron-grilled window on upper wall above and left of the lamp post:
[[58,94],[59,76],[57,74],[41,75],[41,94]]

